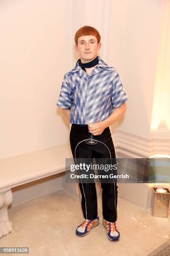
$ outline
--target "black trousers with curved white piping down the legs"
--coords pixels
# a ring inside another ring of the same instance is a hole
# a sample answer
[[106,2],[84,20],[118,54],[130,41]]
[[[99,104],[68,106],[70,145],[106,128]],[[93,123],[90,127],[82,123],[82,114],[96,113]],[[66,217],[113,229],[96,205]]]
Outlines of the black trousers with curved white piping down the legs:
[[[73,158],[87,158],[88,164],[90,164],[88,159],[93,158],[95,158],[97,164],[100,164],[102,158],[110,159],[110,154],[112,159],[116,159],[115,148],[109,127],[105,128],[101,135],[93,135],[93,139],[101,141],[102,143],[97,142],[95,145],[88,145],[86,141],[82,141],[90,138],[90,135],[91,133],[88,131],[87,125],[72,124],[70,130],[70,147]],[[80,141],[82,142],[80,143]],[[96,218],[98,213],[95,182],[79,182],[79,187],[81,191],[81,205],[84,218]],[[103,218],[107,221],[115,222],[117,220],[117,183],[106,183],[101,181],[101,188]]]

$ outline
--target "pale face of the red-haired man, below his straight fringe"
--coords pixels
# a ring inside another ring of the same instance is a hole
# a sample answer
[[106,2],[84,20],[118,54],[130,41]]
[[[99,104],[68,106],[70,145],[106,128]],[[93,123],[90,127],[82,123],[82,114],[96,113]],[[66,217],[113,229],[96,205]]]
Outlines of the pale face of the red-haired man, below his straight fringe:
[[101,43],[97,44],[95,36],[80,36],[77,43],[78,45],[75,44],[75,49],[78,51],[82,63],[95,59],[97,51],[101,47]]

